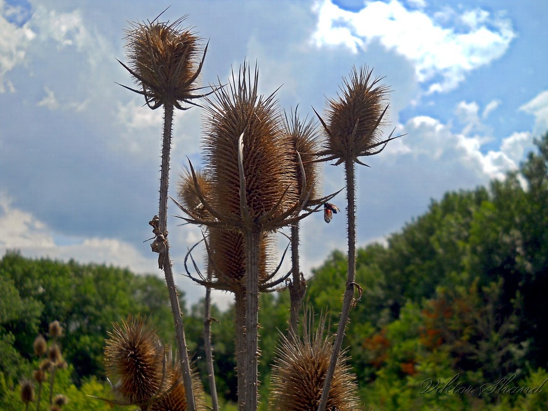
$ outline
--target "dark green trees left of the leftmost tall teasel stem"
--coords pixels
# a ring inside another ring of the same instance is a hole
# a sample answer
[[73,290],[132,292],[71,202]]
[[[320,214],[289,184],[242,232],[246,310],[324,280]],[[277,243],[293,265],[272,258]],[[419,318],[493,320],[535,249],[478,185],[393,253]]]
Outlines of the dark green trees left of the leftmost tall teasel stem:
[[62,350],[74,367],[77,384],[88,376],[104,377],[107,330],[128,313],[148,315],[164,341],[173,338],[165,285],[156,277],[104,265],[31,260],[8,252],[0,261],[0,285],[0,344],[8,353],[0,362],[12,380],[21,378],[19,370],[31,359],[37,334],[55,319],[65,329]]

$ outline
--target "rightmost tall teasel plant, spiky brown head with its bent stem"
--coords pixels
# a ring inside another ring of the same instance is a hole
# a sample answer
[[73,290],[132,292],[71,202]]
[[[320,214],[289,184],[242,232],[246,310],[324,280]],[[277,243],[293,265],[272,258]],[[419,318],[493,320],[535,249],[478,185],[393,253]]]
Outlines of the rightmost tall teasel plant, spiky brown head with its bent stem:
[[[367,164],[361,157],[373,156],[383,151],[389,141],[401,137],[390,135],[383,139],[381,134],[386,127],[386,113],[389,108],[387,96],[390,92],[380,82],[384,77],[373,77],[373,70],[366,67],[352,68],[349,78],[343,79],[340,94],[329,99],[322,123],[324,144],[318,156],[322,161],[335,161],[334,165],[344,164],[347,199],[348,269],[343,308],[333,347],[333,353],[318,411],[325,411],[328,403],[329,387],[332,384],[337,358],[343,344],[346,323],[350,309],[361,297],[362,288],[356,278],[356,164]],[[358,297],[356,298],[357,289]]]

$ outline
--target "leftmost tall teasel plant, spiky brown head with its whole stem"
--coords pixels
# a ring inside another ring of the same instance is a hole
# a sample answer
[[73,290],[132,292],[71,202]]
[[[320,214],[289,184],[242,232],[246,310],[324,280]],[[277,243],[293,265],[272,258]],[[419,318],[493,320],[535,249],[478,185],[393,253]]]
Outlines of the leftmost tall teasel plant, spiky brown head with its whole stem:
[[162,106],[164,109],[159,209],[158,215],[149,222],[155,236],[151,248],[159,254],[158,267],[164,271],[168,287],[187,404],[190,411],[196,411],[181,309],[169,254],[167,201],[174,109],[187,110],[190,106],[199,106],[194,100],[208,94],[200,94],[202,88],[196,85],[206,58],[207,44],[202,52],[201,39],[189,28],[182,27],[186,16],[171,23],[159,21],[160,16],[146,23],[134,22],[127,28],[129,65],[118,61],[138,85],[136,89],[123,87],[144,96],[150,109],[156,110]]

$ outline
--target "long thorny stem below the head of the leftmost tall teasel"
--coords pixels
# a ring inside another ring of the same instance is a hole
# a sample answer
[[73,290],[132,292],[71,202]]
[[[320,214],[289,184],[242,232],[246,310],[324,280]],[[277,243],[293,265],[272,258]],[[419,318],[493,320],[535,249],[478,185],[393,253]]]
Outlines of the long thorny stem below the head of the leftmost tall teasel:
[[164,105],[164,131],[162,142],[162,169],[160,176],[160,203],[159,203],[159,229],[165,237],[165,254],[163,269],[165,282],[168,286],[169,301],[172,306],[173,323],[175,325],[175,336],[179,351],[179,362],[182,370],[182,380],[185,386],[186,403],[189,411],[196,411],[194,392],[192,390],[192,379],[190,374],[189,355],[186,350],[185,330],[182,328],[181,307],[179,296],[173,279],[172,262],[169,258],[169,243],[167,239],[167,209],[168,209],[168,186],[169,186],[169,155],[171,151],[173,124],[173,105]]

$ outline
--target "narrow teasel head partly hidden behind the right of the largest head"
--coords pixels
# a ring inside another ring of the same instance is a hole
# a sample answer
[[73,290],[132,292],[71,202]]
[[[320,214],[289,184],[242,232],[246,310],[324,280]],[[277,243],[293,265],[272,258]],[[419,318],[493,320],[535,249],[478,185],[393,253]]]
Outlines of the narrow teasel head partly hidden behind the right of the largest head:
[[319,191],[319,165],[314,161],[318,151],[317,123],[312,120],[307,121],[306,118],[301,120],[295,109],[295,112],[290,112],[289,117],[286,113],[284,133],[294,150],[293,162],[296,170],[297,189],[299,192],[302,190],[303,182],[299,158],[296,154],[298,152],[305,172],[306,190],[312,189],[310,198],[316,198]]

